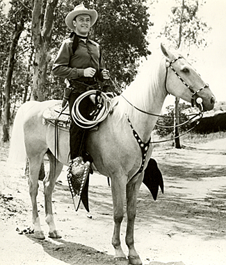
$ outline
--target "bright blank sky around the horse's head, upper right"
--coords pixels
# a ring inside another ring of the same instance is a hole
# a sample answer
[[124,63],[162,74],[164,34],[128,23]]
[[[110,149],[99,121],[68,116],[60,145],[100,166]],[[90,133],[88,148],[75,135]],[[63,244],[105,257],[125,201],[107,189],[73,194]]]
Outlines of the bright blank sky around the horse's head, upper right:
[[[185,0],[186,1],[186,0]],[[148,0],[147,0],[148,3]],[[155,6],[150,6],[151,21],[154,22],[152,31],[158,33],[166,24],[170,8],[175,0],[159,0]],[[226,101],[226,0],[206,0],[204,6],[200,6],[199,17],[212,28],[208,33],[209,46],[194,51],[193,57],[196,62],[195,69],[202,76],[205,83],[210,85],[211,91],[216,96],[216,101]],[[153,38],[153,35],[150,37]],[[154,40],[153,40],[154,39]],[[160,42],[168,46],[168,41],[161,39],[150,39],[150,50],[152,53],[160,49]],[[169,44],[170,46],[170,44]],[[186,48],[186,47],[185,47]],[[189,61],[189,58],[188,58]],[[173,98],[173,97],[172,97]],[[173,99],[168,100],[174,102]]]

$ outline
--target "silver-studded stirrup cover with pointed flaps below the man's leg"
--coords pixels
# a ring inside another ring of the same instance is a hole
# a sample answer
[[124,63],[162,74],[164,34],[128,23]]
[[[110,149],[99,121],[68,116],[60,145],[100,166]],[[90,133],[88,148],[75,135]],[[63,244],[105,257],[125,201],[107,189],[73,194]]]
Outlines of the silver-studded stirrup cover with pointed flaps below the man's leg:
[[88,182],[90,175],[90,162],[83,162],[83,157],[76,157],[70,162],[67,180],[72,193],[74,209],[77,211],[81,201],[87,212],[88,207]]

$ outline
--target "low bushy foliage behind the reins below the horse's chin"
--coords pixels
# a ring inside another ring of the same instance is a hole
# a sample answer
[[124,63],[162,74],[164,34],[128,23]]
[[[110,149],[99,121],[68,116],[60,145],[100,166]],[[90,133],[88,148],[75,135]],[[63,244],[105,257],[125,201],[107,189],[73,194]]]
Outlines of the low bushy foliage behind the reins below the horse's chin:
[[[179,103],[179,121],[180,123],[184,123],[188,121],[188,112],[191,108],[191,105],[188,105],[186,103]],[[157,135],[160,135],[161,137],[166,137],[167,135],[173,134],[173,126],[174,126],[174,105],[169,105],[166,107],[166,115],[164,117],[159,117],[158,121],[156,122],[156,126],[154,130],[156,130]],[[157,125],[160,126],[157,126]],[[161,127],[163,126],[163,127]],[[167,126],[170,126],[170,128],[167,128]],[[172,126],[172,127],[171,127]],[[179,126],[181,132],[186,132],[190,128],[190,123],[186,123],[182,126]]]

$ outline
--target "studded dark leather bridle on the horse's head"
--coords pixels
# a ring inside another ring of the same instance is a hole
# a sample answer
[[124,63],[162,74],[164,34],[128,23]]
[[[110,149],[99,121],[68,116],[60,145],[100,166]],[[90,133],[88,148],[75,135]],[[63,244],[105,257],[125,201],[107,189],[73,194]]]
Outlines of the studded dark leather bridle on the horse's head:
[[[167,82],[167,77],[168,77],[168,68],[170,67],[172,69],[172,71],[176,74],[176,76],[179,78],[179,80],[181,80],[181,82],[186,85],[186,87],[191,91],[192,96],[191,96],[191,105],[194,106],[195,105],[195,95],[197,95],[197,93],[199,93],[202,89],[209,87],[209,85],[206,83],[204,84],[203,87],[201,87],[200,89],[198,89],[197,91],[195,91],[194,89],[192,89],[184,80],[183,78],[181,78],[181,76],[179,76],[179,74],[177,73],[177,71],[172,67],[172,64],[174,62],[176,62],[179,59],[183,59],[183,57],[181,57],[180,55],[175,59],[172,60],[171,62],[166,61],[166,78],[165,78],[165,89],[167,94],[170,94],[168,92],[168,89],[166,87],[166,82]],[[202,98],[197,97],[196,99],[196,103],[200,105],[201,111],[203,111],[203,106],[202,106]]]

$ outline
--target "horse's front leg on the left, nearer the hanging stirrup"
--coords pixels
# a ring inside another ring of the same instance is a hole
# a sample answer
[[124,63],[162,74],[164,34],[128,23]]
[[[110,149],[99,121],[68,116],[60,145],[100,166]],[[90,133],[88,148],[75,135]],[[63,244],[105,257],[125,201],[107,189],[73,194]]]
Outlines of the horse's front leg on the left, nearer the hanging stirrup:
[[126,256],[123,253],[120,241],[120,228],[123,219],[123,207],[125,190],[127,185],[127,178],[111,178],[111,192],[113,198],[113,219],[114,219],[114,230],[112,244],[115,248],[115,259],[125,260]]

